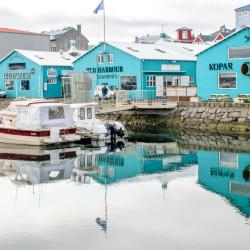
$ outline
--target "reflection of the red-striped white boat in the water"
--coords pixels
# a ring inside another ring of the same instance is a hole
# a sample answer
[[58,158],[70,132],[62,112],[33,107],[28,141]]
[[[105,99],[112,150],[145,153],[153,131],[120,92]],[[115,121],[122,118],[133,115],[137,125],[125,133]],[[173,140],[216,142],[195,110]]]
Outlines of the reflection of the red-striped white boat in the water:
[[0,144],[0,171],[15,184],[40,184],[71,178],[76,148]]

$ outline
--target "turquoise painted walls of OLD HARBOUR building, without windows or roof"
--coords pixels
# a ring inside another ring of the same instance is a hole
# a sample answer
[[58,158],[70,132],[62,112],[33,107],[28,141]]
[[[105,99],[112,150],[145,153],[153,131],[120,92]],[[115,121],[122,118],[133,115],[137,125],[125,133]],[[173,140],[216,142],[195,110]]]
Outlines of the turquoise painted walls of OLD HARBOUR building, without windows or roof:
[[[136,76],[138,90],[155,90],[155,87],[146,86],[147,75],[171,75],[171,76],[192,76],[194,83],[196,82],[196,62],[195,61],[169,61],[169,60],[140,60],[126,52],[121,51],[109,44],[106,44],[106,54],[114,55],[114,62],[107,63],[106,57],[103,64],[97,63],[97,56],[104,52],[104,45],[90,50],[87,54],[74,62],[74,71],[86,72],[88,68],[97,67],[116,67],[122,66],[123,72],[120,73],[94,73],[92,75],[93,89],[96,85],[108,83],[109,86],[116,86],[121,89],[121,76]],[[162,64],[179,64],[181,67],[180,72],[168,73],[161,69]],[[114,78],[112,78],[112,76]]]

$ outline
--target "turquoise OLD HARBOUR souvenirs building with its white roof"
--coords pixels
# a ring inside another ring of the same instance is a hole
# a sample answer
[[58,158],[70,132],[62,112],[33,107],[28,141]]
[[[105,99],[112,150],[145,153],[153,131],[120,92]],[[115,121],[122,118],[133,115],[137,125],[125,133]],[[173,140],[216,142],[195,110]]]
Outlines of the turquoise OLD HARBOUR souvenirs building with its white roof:
[[74,71],[91,73],[93,89],[106,83],[119,90],[166,93],[168,87],[195,85],[195,54],[201,47],[163,41],[100,43],[74,61]]

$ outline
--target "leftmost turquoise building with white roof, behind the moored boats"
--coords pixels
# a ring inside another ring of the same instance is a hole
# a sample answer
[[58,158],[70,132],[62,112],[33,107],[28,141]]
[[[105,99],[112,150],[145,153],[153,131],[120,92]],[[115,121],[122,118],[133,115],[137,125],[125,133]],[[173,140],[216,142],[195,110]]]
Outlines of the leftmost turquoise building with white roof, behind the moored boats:
[[0,89],[7,97],[62,97],[62,79],[75,59],[66,53],[14,50],[0,62]]

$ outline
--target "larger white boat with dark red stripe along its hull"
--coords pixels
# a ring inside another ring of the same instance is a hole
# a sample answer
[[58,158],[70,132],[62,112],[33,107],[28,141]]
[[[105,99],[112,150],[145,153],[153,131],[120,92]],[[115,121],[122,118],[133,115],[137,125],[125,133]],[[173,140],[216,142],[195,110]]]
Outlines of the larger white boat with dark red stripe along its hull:
[[28,99],[13,101],[0,111],[0,142],[46,145],[77,140],[68,104]]

